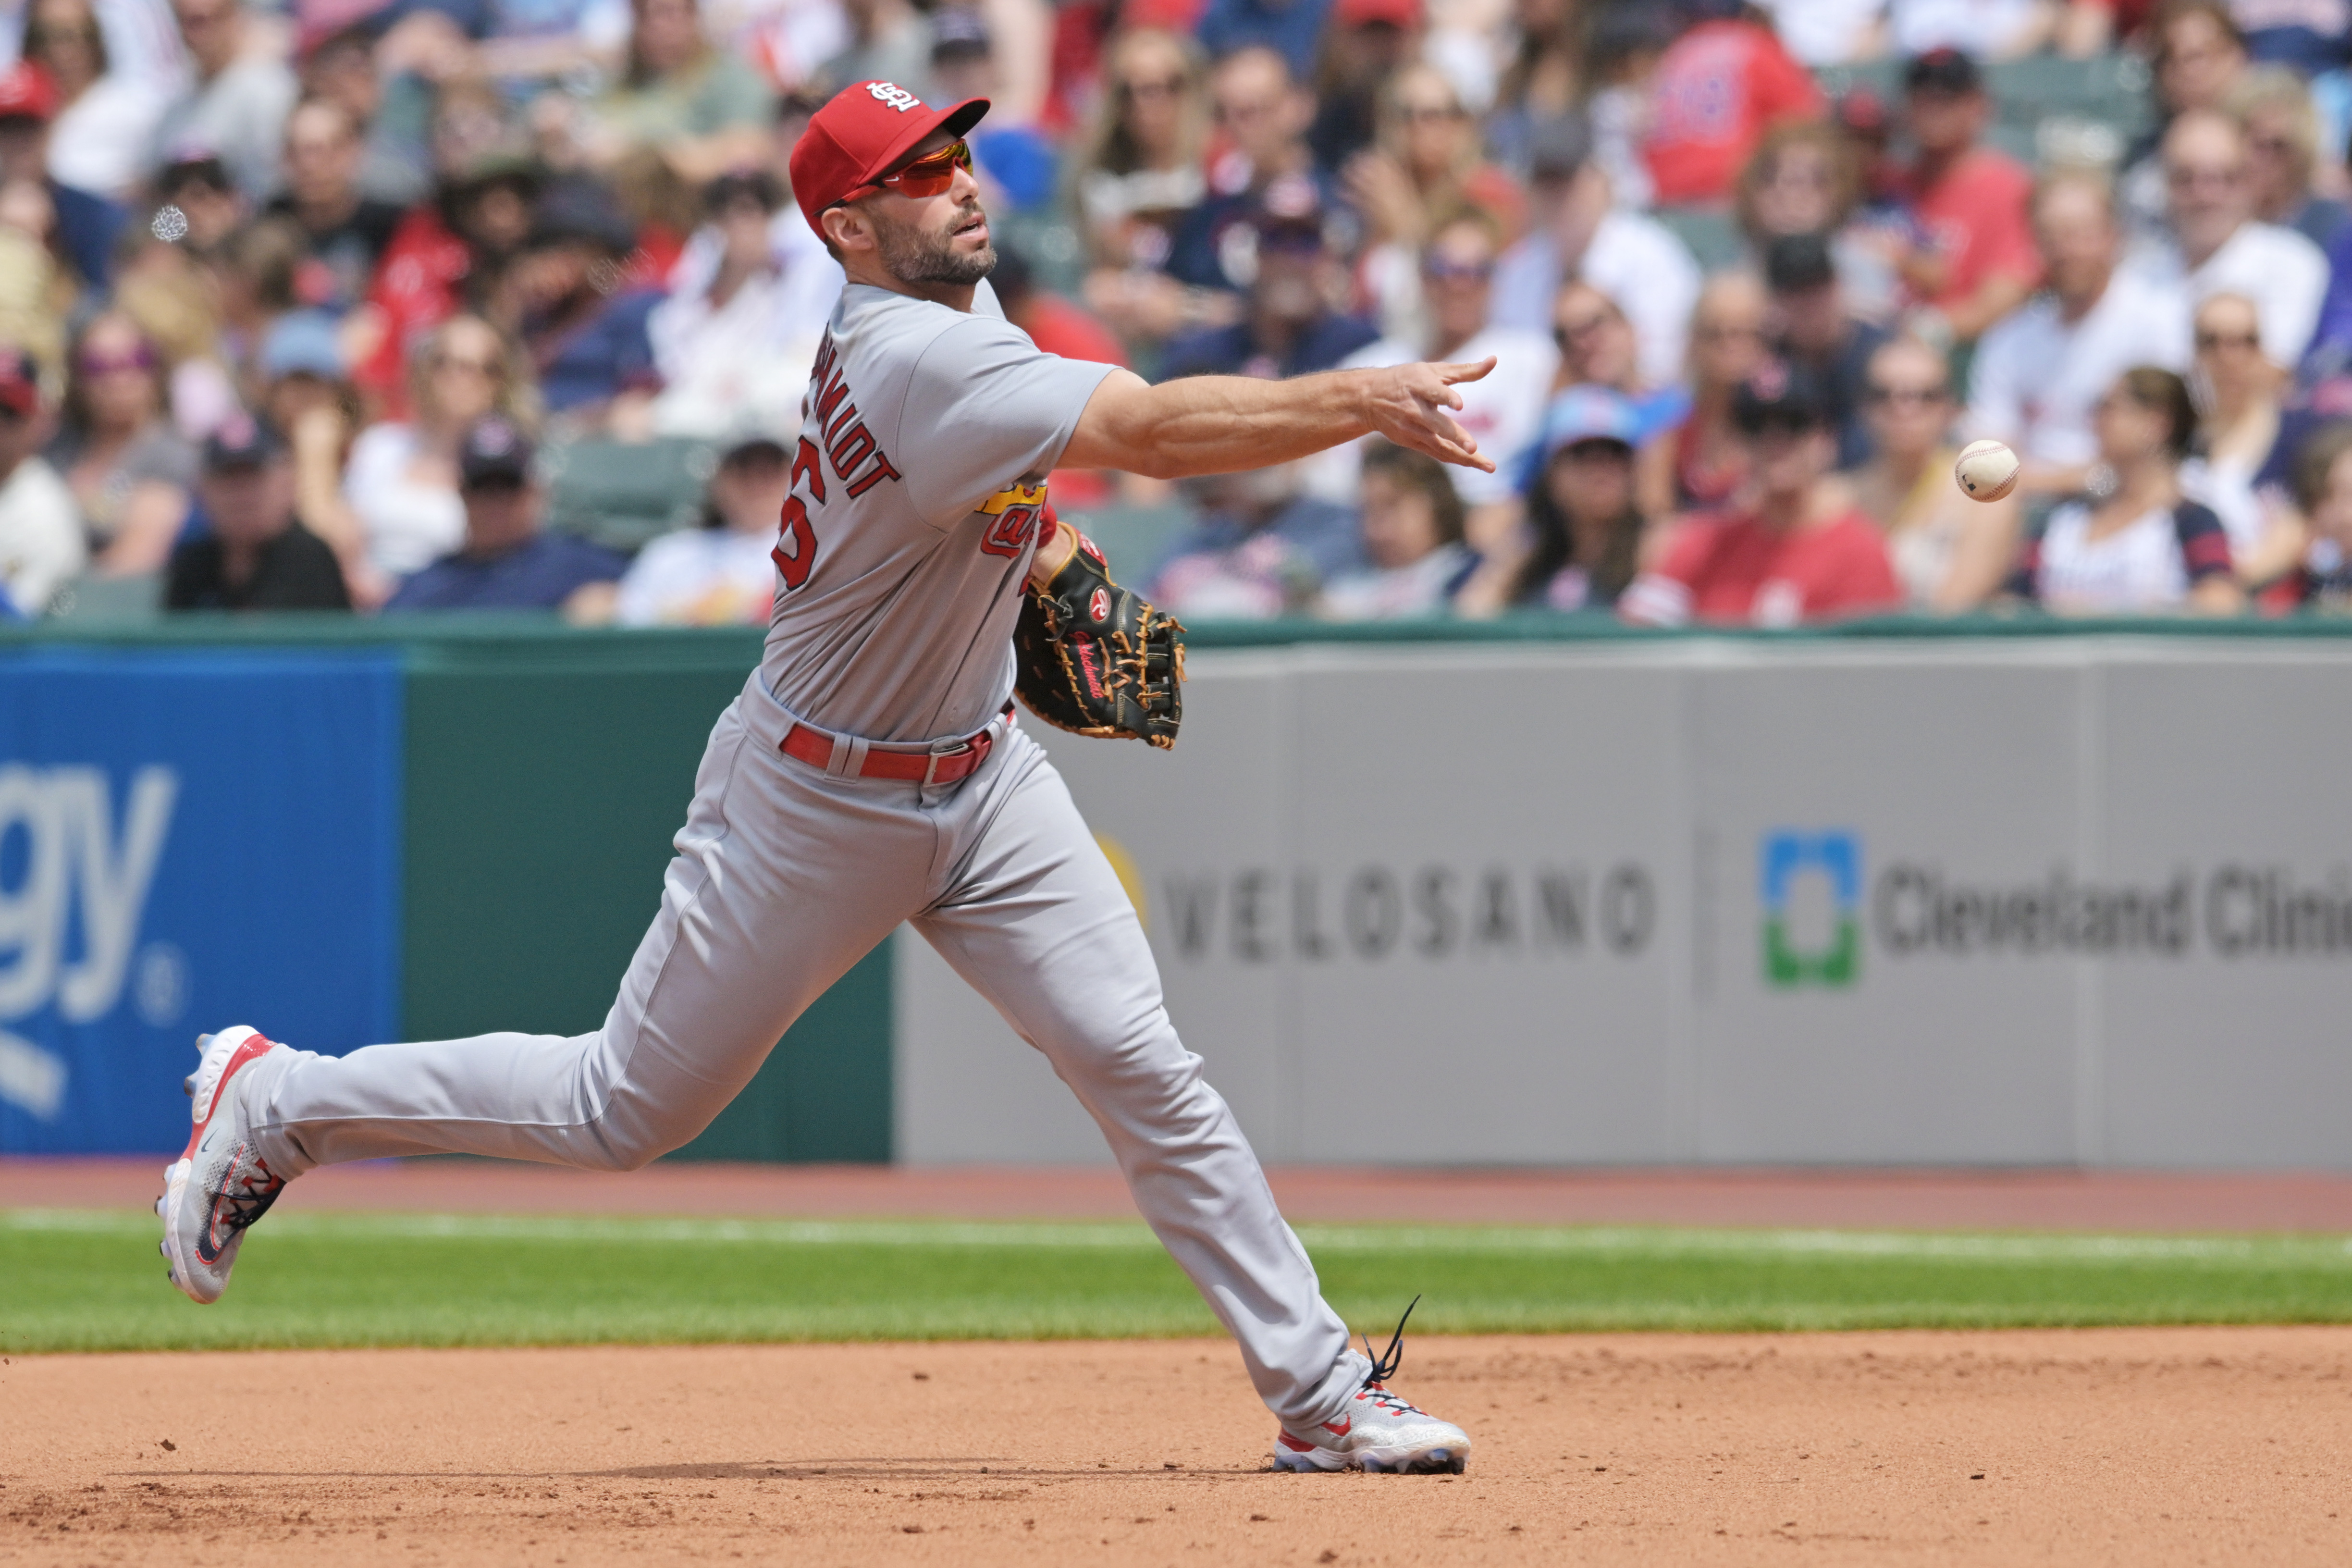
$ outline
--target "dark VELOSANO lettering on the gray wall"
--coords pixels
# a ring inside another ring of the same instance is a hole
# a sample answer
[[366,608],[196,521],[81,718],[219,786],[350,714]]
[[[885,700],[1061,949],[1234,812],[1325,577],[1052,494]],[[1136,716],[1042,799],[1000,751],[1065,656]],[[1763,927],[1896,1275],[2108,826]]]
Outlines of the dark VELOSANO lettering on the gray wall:
[[1639,863],[1249,865],[1169,875],[1164,889],[1162,938],[1190,964],[1635,957],[1658,929],[1658,879]]

